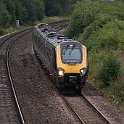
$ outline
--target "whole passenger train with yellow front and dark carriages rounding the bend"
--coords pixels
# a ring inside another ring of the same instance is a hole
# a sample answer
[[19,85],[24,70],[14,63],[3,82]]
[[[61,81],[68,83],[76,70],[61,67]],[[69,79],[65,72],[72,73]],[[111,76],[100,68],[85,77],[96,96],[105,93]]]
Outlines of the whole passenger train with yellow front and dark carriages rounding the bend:
[[45,23],[34,26],[33,38],[33,50],[57,88],[81,92],[88,76],[86,46]]

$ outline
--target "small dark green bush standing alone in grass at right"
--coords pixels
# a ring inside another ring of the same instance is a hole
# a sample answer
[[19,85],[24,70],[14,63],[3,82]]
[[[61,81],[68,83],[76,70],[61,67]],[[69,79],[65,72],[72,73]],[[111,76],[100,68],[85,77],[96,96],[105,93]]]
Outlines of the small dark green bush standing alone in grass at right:
[[103,86],[110,86],[111,83],[117,79],[119,70],[120,63],[112,54],[108,55],[107,58],[103,61],[99,75]]

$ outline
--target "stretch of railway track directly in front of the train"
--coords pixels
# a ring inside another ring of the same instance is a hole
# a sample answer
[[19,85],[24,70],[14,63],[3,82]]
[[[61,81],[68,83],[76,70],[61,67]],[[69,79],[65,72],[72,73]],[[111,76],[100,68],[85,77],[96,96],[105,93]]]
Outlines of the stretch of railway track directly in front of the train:
[[85,96],[62,95],[62,97],[82,124],[112,124]]

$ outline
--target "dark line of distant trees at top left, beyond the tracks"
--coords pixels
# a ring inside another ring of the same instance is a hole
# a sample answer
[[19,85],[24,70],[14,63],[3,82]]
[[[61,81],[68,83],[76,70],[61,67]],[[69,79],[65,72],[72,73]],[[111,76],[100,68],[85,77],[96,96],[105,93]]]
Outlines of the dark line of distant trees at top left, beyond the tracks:
[[77,0],[0,0],[0,27],[26,23],[46,16],[67,15]]

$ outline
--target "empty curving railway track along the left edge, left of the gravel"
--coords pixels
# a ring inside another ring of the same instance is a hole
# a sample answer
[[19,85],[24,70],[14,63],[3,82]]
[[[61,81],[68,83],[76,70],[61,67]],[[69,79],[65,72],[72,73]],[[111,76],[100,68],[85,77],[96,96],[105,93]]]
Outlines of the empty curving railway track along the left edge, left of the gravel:
[[0,123],[24,124],[24,118],[13,86],[9,67],[11,45],[31,29],[13,33],[0,39]]

